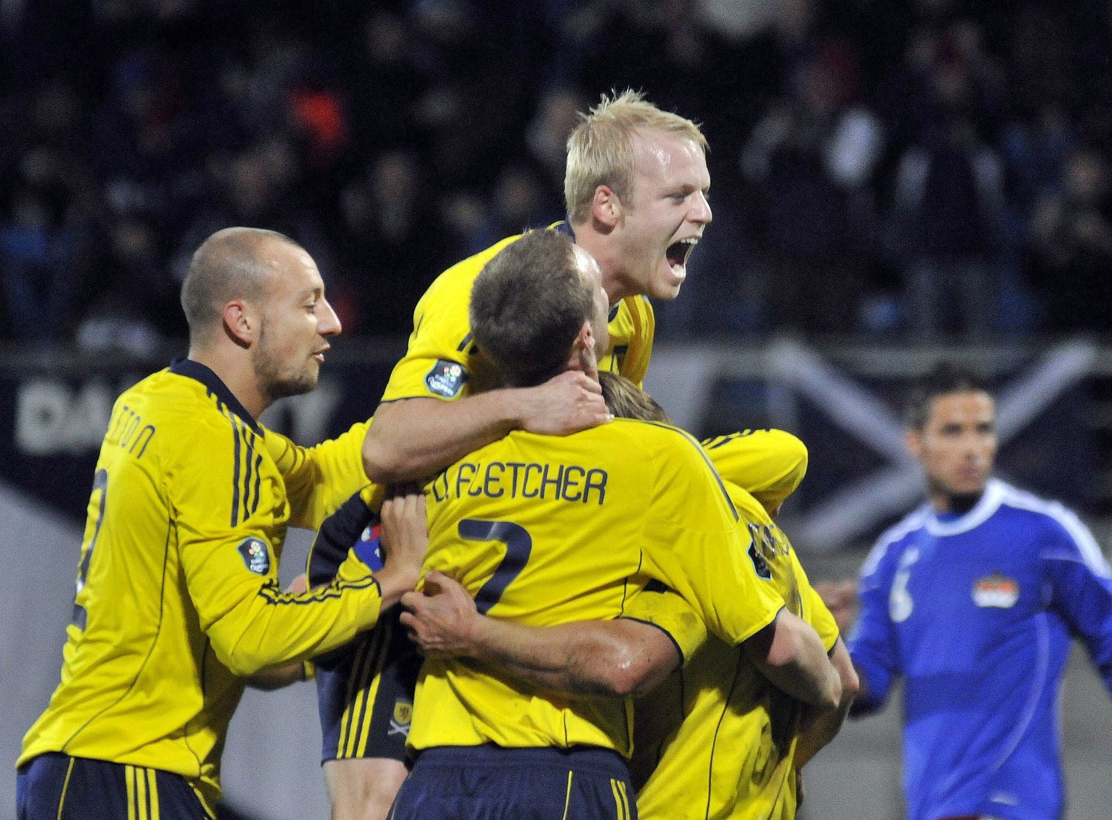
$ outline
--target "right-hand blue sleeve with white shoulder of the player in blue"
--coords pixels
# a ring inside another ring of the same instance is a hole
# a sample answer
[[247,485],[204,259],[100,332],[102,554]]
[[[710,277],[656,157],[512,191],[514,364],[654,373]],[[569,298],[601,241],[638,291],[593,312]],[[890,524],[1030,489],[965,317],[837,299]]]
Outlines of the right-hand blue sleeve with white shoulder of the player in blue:
[[1112,569],[1083,523],[1066,510],[1049,522],[1040,558],[1051,606],[1084,641],[1112,692]]

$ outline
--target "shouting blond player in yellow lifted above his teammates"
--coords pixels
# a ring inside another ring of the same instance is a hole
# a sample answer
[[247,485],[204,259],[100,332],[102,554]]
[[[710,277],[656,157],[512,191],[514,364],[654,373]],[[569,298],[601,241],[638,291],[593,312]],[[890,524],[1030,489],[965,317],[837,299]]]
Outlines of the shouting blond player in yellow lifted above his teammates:
[[[706,139],[683,117],[662,111],[639,93],[604,97],[568,139],[564,193],[567,222],[558,229],[597,259],[610,304],[609,343],[599,368],[638,384],[653,348],[653,307],[646,297],[674,299],[687,260],[711,222],[711,178]],[[367,474],[379,483],[420,480],[513,429],[567,433],[609,419],[598,386],[578,372],[559,373],[530,387],[499,387],[490,362],[475,344],[468,318],[471,284],[483,266],[518,237],[465,259],[441,273],[414,311],[414,330],[375,412],[365,444]],[[380,642],[381,643],[381,642]],[[386,646],[383,643],[383,646]],[[342,714],[353,734],[368,737],[370,724],[394,702],[365,706],[393,659],[363,653],[347,681],[318,678],[321,714]],[[371,698],[375,701],[374,698]],[[356,711],[359,720],[349,718]],[[389,717],[389,716],[387,716]],[[322,719],[330,739],[332,723]],[[393,728],[391,728],[393,729]],[[324,750],[325,778],[335,820],[381,820],[389,796],[406,769],[386,740]],[[361,751],[354,751],[356,748]]]

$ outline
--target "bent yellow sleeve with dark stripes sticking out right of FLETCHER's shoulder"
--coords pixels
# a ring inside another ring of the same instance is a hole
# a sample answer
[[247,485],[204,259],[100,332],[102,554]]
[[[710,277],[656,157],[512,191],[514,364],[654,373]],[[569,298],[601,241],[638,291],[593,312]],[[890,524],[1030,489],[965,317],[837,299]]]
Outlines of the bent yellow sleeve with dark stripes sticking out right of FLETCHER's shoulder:
[[743,430],[703,442],[726,481],[746,490],[773,513],[807,472],[807,448],[783,430]]

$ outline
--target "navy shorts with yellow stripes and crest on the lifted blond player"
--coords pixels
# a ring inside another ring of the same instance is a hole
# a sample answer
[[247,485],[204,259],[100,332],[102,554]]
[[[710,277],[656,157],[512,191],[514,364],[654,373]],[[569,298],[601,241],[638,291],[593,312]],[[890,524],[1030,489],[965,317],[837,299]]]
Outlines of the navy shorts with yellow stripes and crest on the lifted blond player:
[[406,761],[421,657],[400,613],[391,608],[373,630],[316,659],[322,760]]

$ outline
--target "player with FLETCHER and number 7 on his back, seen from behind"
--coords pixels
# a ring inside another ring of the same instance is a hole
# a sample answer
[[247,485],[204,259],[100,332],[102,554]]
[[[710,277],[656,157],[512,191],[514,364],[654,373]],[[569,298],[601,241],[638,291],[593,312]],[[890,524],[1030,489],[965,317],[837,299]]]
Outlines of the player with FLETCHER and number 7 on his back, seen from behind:
[[[504,249],[471,293],[476,340],[515,386],[565,369],[596,378],[605,310],[597,266],[547,231]],[[656,581],[731,646],[791,644],[804,697],[840,696],[818,637],[762,578],[721,479],[676,428],[619,419],[567,437],[515,431],[441,472],[428,503],[425,567],[458,580],[481,611],[533,626],[616,618]],[[394,817],[635,817],[627,707],[429,659]]]

